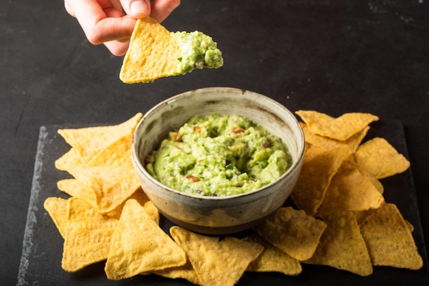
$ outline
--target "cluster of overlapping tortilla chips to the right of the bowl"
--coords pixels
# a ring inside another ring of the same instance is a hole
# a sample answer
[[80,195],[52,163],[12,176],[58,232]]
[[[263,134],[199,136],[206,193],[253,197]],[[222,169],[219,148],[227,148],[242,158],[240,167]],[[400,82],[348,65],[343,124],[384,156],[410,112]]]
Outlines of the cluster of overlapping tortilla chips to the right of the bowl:
[[385,202],[380,179],[410,166],[385,139],[362,143],[378,117],[351,112],[341,117],[311,110],[296,112],[306,139],[302,172],[291,198],[307,215],[327,226],[304,263],[330,265],[361,276],[373,265],[418,270],[423,261],[409,222]]

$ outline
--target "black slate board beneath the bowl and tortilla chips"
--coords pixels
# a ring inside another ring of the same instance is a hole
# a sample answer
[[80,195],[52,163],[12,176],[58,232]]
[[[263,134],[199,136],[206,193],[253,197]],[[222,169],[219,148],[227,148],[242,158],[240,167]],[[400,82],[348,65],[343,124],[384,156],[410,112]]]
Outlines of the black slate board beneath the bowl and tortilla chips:
[[[73,274],[62,270],[63,239],[43,208],[43,202],[46,198],[53,196],[67,198],[57,189],[56,182],[69,178],[69,175],[58,171],[54,166],[55,160],[70,148],[57,133],[59,128],[64,127],[82,126],[42,126],[40,128],[17,285],[192,285],[182,279],[173,280],[156,275],[108,281],[103,271],[104,262],[90,265]],[[371,130],[364,141],[375,136],[387,139],[398,152],[408,157],[404,130],[400,121],[371,123]],[[395,203],[404,218],[415,227],[413,235],[419,253],[424,259],[424,267],[421,270],[374,267],[371,276],[360,277],[331,267],[303,265],[302,274],[299,276],[245,273],[237,285],[429,285],[428,257],[419,218],[412,167],[403,174],[382,180],[382,183],[385,200]],[[168,230],[171,226],[171,222],[163,217],[160,224],[164,230]]]

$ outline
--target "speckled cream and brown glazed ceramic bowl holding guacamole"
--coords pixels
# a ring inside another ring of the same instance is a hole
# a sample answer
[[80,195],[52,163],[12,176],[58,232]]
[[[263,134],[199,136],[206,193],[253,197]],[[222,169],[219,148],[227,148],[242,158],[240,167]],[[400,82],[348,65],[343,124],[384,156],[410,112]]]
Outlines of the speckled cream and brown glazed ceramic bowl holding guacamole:
[[[169,131],[177,130],[193,115],[213,112],[242,115],[280,136],[291,152],[292,167],[265,187],[224,197],[188,195],[151,177],[144,160]],[[162,215],[197,233],[225,235],[252,228],[284,204],[301,170],[304,145],[295,116],[273,99],[236,88],[201,88],[171,97],[143,116],[134,132],[132,160],[145,193]]]

